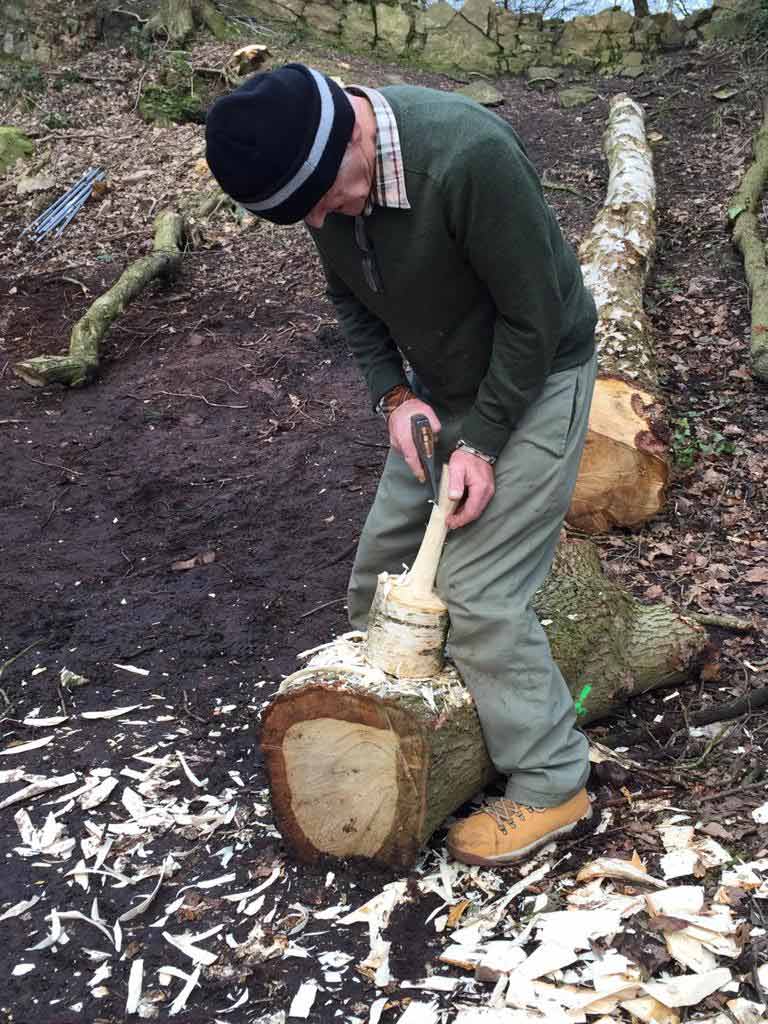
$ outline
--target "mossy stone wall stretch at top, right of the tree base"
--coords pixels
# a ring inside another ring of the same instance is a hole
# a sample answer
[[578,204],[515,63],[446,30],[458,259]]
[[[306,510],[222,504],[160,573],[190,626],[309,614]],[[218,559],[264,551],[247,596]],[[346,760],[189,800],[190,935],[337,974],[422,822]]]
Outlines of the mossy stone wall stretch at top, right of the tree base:
[[741,2],[715,0],[713,8],[682,20],[667,13],[635,18],[616,8],[568,22],[545,20],[541,14],[501,9],[493,0],[466,0],[459,10],[445,0],[426,10],[408,0],[249,0],[248,7],[265,24],[439,71],[503,74],[575,65],[633,75],[658,52],[696,46],[718,35],[713,27],[730,24],[731,8]]

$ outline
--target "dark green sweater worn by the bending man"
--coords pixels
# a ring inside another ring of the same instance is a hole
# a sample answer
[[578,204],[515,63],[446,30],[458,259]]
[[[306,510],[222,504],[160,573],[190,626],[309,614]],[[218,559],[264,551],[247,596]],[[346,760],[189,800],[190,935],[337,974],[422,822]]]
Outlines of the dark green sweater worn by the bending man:
[[595,305],[513,129],[451,93],[381,91],[412,209],[366,218],[378,294],[353,217],[310,230],[328,294],[374,407],[406,381],[404,357],[438,414],[463,416],[464,440],[498,455],[547,376],[591,356]]

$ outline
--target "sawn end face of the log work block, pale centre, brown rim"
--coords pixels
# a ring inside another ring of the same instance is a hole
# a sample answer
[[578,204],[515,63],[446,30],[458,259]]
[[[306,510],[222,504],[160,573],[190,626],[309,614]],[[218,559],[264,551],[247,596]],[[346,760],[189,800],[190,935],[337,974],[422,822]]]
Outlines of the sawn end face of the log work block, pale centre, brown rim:
[[341,679],[310,683],[267,709],[262,748],[278,826],[298,859],[413,862],[429,772],[418,718]]

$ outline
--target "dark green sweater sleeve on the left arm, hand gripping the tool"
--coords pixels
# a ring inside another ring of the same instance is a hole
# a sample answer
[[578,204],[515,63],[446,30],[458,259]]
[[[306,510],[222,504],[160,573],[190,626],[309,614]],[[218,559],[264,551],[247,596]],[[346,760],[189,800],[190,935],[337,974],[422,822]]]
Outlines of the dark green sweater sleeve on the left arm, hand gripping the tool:
[[[315,242],[316,244],[316,242]],[[326,274],[328,297],[334,305],[341,333],[366,380],[373,408],[387,391],[408,384],[402,356],[386,324],[367,309],[347,288],[317,247]]]

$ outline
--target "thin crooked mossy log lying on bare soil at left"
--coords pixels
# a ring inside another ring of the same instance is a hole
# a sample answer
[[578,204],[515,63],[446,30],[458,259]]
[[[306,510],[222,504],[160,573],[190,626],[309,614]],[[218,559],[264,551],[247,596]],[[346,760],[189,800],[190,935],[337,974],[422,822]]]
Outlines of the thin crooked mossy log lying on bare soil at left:
[[98,369],[98,350],[113,323],[155,278],[172,276],[181,262],[186,236],[184,219],[165,210],[155,220],[153,251],[135,260],[109,291],[91,304],[70,336],[67,355],[38,355],[16,362],[13,372],[33,387],[87,384]]

